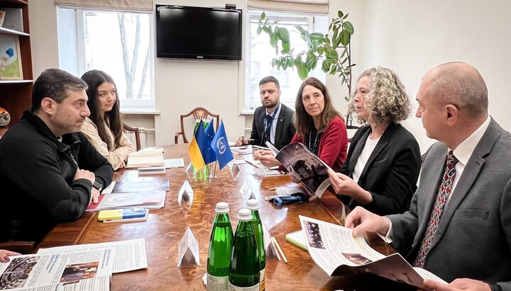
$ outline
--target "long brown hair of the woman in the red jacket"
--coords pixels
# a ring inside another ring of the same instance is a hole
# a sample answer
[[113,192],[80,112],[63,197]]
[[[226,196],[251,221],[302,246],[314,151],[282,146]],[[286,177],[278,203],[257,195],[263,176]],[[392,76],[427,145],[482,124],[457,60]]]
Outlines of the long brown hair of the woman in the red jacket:
[[336,108],[334,108],[328,89],[326,89],[326,86],[322,83],[322,81],[319,81],[314,77],[309,77],[305,79],[305,81],[302,83],[302,86],[300,86],[295,101],[295,120],[293,122],[295,123],[297,134],[300,135],[300,137],[305,137],[309,134],[312,123],[312,118],[307,113],[307,111],[305,111],[305,107],[302,102],[302,93],[305,86],[307,85],[319,89],[319,91],[322,91],[324,96],[324,109],[319,120],[318,132],[323,132],[326,128],[326,125],[328,125],[334,116],[339,116],[339,118],[344,120],[341,113],[339,113]]

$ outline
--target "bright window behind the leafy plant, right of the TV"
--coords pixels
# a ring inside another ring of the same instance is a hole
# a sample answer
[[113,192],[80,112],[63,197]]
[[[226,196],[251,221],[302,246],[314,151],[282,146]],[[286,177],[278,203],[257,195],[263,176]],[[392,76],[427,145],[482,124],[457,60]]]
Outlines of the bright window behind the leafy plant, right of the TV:
[[[249,11],[250,17],[250,38],[247,38],[247,64],[248,78],[246,78],[246,100],[245,107],[249,110],[257,108],[261,105],[259,96],[259,81],[265,76],[275,76],[280,84],[280,101],[290,108],[295,108],[295,98],[302,80],[298,74],[292,69],[278,70],[272,67],[272,59],[275,57],[275,49],[270,46],[268,35],[265,33],[257,34],[258,21],[263,11]],[[307,46],[300,38],[295,25],[300,25],[304,30],[310,32],[326,33],[327,16],[304,16],[290,13],[278,13],[266,11],[266,17],[270,21],[274,21],[279,27],[285,27],[290,31],[291,47],[295,52],[307,50]],[[309,76],[315,76],[325,81],[326,76],[321,70],[321,63],[317,64],[314,72]]]

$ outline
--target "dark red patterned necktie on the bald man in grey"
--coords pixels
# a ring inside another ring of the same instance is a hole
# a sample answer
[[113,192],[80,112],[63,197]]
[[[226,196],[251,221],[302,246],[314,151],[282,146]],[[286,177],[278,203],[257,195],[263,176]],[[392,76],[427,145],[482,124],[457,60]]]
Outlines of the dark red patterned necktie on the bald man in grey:
[[458,163],[458,159],[456,159],[456,156],[454,156],[452,151],[449,151],[449,154],[447,155],[447,164],[444,172],[444,178],[442,179],[439,193],[436,195],[436,201],[433,206],[432,214],[429,217],[429,222],[427,224],[426,234],[424,234],[419,253],[417,253],[417,258],[415,258],[414,261],[415,267],[422,268],[424,266],[424,261],[429,251],[429,245],[433,240],[436,229],[438,229],[442,211],[444,210],[444,205],[449,199],[449,195],[451,194],[454,178],[456,177],[456,163]]

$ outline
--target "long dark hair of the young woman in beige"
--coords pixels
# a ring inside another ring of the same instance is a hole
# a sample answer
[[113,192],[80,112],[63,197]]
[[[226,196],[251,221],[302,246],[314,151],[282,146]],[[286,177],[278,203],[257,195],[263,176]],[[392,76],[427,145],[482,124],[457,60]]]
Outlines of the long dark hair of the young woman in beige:
[[[98,101],[98,87],[101,86],[104,82],[108,82],[114,84],[115,89],[117,90],[117,86],[114,82],[114,79],[109,74],[106,74],[103,71],[99,71],[97,69],[93,69],[82,76],[82,80],[87,83],[89,88],[87,89],[87,96],[89,97],[89,101],[87,101],[87,105],[89,106],[89,110],[91,115],[89,118],[94,122],[97,126],[99,137],[106,143],[109,151],[111,150],[111,140],[110,136],[106,132],[106,127],[110,128],[112,135],[114,135],[114,149],[119,147],[121,143],[123,127],[122,127],[122,116],[121,116],[121,105],[119,105],[119,96],[116,91],[116,101],[114,103],[114,107],[112,110],[105,113],[104,118],[99,114],[99,101]],[[106,122],[109,120],[109,125]],[[108,126],[107,126],[108,125]]]

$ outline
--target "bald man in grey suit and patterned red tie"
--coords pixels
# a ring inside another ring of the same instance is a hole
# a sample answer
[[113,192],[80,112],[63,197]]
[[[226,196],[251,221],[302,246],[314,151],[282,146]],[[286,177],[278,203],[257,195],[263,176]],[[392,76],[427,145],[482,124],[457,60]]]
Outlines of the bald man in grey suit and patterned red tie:
[[417,101],[439,142],[424,156],[410,211],[380,217],[357,207],[346,227],[385,235],[414,266],[451,282],[425,280],[432,289],[511,290],[511,135],[488,115],[485,81],[470,64],[441,64]]

